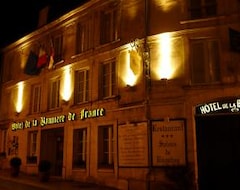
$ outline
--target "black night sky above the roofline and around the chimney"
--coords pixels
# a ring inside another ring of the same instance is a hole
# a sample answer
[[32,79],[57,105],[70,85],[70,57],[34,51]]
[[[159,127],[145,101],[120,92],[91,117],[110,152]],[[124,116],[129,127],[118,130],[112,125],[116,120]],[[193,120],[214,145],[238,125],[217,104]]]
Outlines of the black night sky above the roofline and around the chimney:
[[50,21],[88,0],[7,0],[0,5],[0,48],[34,31],[39,11],[50,5]]

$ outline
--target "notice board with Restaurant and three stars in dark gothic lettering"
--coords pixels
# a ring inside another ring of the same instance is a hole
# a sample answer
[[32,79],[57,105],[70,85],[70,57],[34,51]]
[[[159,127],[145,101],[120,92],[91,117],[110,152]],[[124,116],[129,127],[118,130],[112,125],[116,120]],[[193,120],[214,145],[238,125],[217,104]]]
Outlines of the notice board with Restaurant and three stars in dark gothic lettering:
[[154,121],[152,131],[152,165],[186,165],[184,120]]

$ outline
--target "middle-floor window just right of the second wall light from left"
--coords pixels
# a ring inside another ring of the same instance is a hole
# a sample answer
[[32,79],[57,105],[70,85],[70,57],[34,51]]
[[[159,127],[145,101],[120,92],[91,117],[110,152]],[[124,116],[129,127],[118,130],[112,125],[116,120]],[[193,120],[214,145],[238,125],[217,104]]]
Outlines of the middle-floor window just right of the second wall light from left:
[[75,71],[74,104],[89,100],[89,70]]

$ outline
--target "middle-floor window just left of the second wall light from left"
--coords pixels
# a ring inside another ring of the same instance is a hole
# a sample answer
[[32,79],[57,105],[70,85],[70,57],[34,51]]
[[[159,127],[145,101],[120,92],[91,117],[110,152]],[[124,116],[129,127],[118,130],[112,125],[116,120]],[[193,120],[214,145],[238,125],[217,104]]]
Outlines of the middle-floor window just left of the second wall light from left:
[[60,79],[56,78],[50,81],[49,95],[48,95],[48,108],[56,109],[59,108],[59,97],[60,97]]

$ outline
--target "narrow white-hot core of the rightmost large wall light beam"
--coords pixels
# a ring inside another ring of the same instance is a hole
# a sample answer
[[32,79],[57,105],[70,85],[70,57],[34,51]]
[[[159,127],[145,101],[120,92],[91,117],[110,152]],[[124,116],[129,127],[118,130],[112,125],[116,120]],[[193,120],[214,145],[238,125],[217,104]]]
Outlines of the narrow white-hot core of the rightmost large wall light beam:
[[159,54],[160,60],[157,68],[157,75],[160,79],[171,79],[173,76],[173,63],[172,63],[172,43],[171,35],[164,33],[159,38]]

